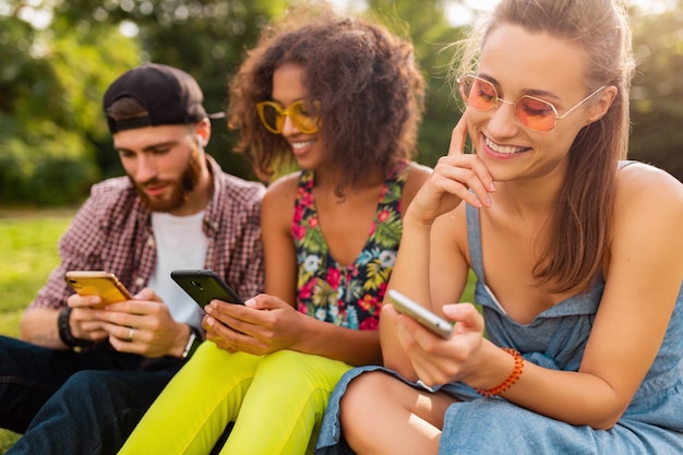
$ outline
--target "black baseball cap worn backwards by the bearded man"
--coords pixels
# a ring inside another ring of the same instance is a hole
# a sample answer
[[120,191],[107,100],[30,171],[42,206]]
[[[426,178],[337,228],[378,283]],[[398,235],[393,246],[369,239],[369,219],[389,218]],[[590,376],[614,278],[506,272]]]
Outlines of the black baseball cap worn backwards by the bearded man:
[[[137,100],[147,116],[116,121],[109,116],[113,101],[124,97]],[[109,131],[113,134],[159,124],[194,123],[207,116],[202,106],[204,95],[194,77],[177,68],[159,63],[144,63],[127,71],[107,88],[104,98]]]

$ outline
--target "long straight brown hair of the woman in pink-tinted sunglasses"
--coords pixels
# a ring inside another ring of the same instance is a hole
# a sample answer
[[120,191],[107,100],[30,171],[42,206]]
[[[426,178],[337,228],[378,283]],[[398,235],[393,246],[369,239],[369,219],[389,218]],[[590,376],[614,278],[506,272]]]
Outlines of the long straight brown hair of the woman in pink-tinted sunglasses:
[[616,166],[628,146],[634,65],[627,13],[616,0],[502,0],[479,31],[479,39],[468,41],[453,73],[470,72],[487,37],[503,24],[578,46],[588,56],[587,85],[618,89],[608,112],[584,127],[570,148],[548,242],[534,268],[539,284],[550,285],[556,292],[586,289],[599,276],[608,253]]

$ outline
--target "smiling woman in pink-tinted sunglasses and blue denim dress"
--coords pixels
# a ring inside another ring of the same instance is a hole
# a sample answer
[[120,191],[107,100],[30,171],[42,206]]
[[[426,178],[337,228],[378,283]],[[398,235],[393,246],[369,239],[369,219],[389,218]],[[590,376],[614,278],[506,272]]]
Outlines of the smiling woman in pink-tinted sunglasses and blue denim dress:
[[626,17],[501,0],[465,49],[390,282],[452,334],[386,304],[384,368],[345,374],[317,454],[683,453],[683,185],[625,160]]

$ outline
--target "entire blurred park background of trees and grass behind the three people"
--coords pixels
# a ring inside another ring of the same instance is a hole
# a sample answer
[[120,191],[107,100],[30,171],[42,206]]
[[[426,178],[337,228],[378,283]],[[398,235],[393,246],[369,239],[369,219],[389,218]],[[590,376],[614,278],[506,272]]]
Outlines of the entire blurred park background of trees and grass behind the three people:
[[[184,69],[223,111],[227,83],[286,0],[0,0],[0,334],[17,336],[23,309],[59,261],[57,241],[89,187],[122,175],[101,112],[107,86],[145,61]],[[447,44],[495,0],[333,0],[411,38],[428,83],[418,160],[447,151],[460,113],[446,82]],[[630,157],[683,180],[683,0],[627,0],[637,71]],[[534,51],[534,49],[529,49]],[[213,122],[207,152],[255,177]],[[599,191],[599,189],[598,189]],[[0,454],[19,435],[0,430]]]

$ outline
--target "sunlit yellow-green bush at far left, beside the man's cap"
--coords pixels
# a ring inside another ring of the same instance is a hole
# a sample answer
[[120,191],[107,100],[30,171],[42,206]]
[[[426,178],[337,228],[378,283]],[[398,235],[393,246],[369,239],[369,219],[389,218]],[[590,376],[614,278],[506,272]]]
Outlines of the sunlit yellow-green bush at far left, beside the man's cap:
[[[0,201],[64,204],[99,178],[93,141],[105,136],[101,89],[139,50],[116,26],[49,29],[0,14]],[[100,55],[117,49],[118,67]]]

